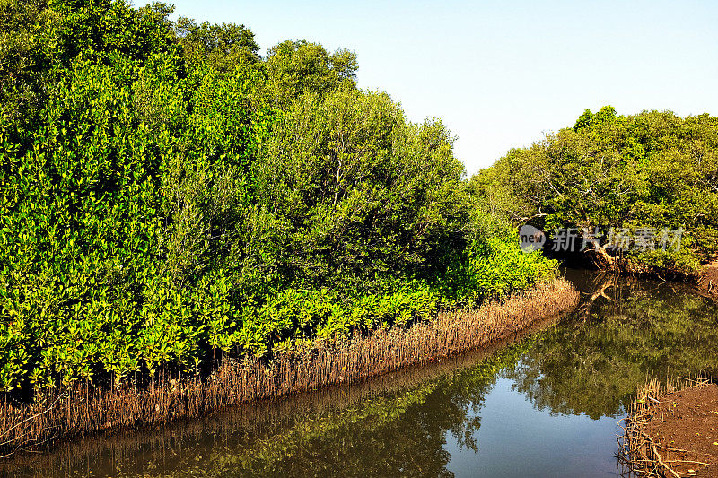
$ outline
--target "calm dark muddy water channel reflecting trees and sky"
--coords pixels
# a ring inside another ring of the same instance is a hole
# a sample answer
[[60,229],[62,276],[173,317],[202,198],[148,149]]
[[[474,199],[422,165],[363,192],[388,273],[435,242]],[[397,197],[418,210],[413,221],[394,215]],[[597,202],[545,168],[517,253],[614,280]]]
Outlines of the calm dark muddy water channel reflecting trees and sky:
[[718,310],[676,284],[566,275],[579,309],[494,350],[64,442],[0,476],[617,475],[636,384],[718,366]]

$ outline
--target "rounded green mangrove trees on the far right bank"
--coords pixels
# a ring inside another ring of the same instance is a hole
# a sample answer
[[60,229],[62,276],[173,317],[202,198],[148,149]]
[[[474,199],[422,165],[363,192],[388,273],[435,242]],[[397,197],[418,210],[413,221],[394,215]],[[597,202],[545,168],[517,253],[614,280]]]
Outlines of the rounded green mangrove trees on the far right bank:
[[685,277],[718,258],[718,117],[587,109],[573,127],[508,152],[471,187],[515,225],[587,239],[598,230],[586,254],[602,268]]

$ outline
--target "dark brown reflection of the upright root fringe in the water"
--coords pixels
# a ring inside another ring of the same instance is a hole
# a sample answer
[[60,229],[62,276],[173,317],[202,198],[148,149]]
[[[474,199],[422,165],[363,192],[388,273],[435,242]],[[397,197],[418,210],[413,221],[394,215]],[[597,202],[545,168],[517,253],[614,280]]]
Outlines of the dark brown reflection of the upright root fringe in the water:
[[168,454],[171,449],[181,449],[185,456],[206,456],[217,447],[234,453],[250,440],[260,443],[259,447],[272,447],[276,445],[273,440],[287,429],[296,430],[305,423],[321,423],[367,401],[400,395],[428,381],[474,368],[495,353],[505,351],[506,347],[555,323],[560,317],[536,322],[498,343],[360,383],[322,387],[281,400],[255,400],[200,418],[113,430],[111,434],[94,433],[83,439],[63,442],[62,447],[44,449],[43,453],[14,454],[0,460],[0,478],[72,476],[77,470],[85,469],[98,471],[132,467],[145,470],[160,464],[173,466],[177,464],[178,456]]

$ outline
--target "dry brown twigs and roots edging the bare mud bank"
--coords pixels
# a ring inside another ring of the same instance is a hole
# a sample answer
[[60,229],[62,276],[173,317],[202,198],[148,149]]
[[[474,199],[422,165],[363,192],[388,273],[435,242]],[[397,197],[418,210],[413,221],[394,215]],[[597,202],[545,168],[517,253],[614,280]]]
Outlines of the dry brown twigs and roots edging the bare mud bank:
[[[628,476],[680,478],[686,475],[674,469],[673,463],[681,460],[669,460],[666,456],[672,451],[685,451],[662,445],[648,433],[648,425],[654,418],[653,407],[660,404],[666,395],[690,387],[703,387],[710,383],[707,379],[679,378],[674,382],[662,383],[656,378],[647,381],[638,388],[634,401],[628,407],[628,416],[622,422],[624,434],[618,438],[618,461],[624,466]],[[685,462],[705,465],[699,462]]]

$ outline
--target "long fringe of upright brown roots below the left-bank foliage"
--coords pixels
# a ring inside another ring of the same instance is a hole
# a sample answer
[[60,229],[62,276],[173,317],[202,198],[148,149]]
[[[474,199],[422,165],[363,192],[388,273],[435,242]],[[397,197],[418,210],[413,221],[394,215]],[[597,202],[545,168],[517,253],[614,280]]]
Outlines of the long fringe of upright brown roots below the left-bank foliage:
[[225,361],[209,377],[153,382],[144,389],[74,387],[50,405],[0,404],[6,451],[101,430],[138,427],[253,400],[358,383],[410,365],[501,343],[532,324],[575,308],[579,293],[558,278],[478,309],[444,312],[431,322],[278,353],[271,362]]

